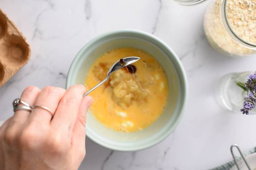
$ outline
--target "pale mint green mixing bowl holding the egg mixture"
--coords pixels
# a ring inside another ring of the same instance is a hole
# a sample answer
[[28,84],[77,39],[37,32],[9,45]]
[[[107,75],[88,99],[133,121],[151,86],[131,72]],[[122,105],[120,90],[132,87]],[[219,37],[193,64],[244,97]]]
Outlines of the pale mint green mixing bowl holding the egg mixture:
[[[97,57],[117,47],[142,49],[162,65],[169,82],[169,100],[162,115],[142,131],[121,133],[108,129],[92,113],[87,113],[86,135],[109,149],[137,151],[149,148],[164,140],[178,125],[187,98],[187,80],[179,58],[163,41],[155,36],[137,30],[121,30],[102,34],[89,41],[72,62],[66,88],[84,84],[86,74]],[[82,95],[82,94],[81,94]]]

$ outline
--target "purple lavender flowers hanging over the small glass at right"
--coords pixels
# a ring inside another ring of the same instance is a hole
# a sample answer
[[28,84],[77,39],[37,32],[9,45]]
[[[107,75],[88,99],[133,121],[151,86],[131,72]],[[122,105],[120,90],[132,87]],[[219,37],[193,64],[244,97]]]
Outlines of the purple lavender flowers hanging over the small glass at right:
[[243,108],[240,111],[243,114],[249,114],[251,109],[256,106],[256,72],[249,75],[249,78],[245,82],[245,88],[249,90],[249,94],[245,96],[245,102]]

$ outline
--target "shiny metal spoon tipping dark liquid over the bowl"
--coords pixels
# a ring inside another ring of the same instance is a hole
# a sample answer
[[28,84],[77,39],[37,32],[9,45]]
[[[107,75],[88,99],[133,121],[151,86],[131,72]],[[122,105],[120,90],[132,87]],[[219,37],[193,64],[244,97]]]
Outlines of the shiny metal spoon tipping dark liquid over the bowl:
[[91,90],[87,91],[83,96],[88,95],[90,92],[92,92],[94,89],[96,89],[98,86],[102,85],[105,83],[110,78],[110,74],[115,72],[116,70],[119,70],[120,68],[126,67],[129,64],[132,64],[136,61],[138,61],[140,57],[126,57],[122,58],[121,60],[117,61],[116,63],[113,64],[113,66],[108,70],[107,72],[107,77],[103,81],[101,81],[99,84],[94,86]]

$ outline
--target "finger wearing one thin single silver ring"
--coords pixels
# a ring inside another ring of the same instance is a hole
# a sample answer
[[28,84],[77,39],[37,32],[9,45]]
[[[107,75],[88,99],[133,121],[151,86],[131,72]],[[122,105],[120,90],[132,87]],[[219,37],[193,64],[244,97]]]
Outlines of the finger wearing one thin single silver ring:
[[[38,95],[37,100],[35,102],[35,106],[43,106],[50,109],[52,114],[55,113],[58,104],[64,94],[66,93],[65,89],[62,89],[60,87],[44,87],[41,91],[41,93]],[[43,108],[34,108],[30,115],[30,122],[31,121],[37,121],[42,124],[49,124],[53,115],[50,112],[48,112],[46,109]]]

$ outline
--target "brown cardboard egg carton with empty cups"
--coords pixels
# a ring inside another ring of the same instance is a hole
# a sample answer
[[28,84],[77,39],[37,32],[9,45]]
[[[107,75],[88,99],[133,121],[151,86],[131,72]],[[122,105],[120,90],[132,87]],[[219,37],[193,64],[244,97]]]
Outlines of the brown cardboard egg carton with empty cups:
[[26,38],[0,10],[0,86],[28,62],[30,54]]

